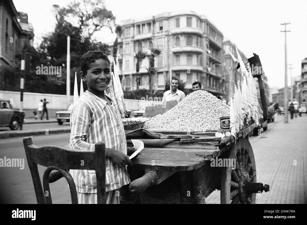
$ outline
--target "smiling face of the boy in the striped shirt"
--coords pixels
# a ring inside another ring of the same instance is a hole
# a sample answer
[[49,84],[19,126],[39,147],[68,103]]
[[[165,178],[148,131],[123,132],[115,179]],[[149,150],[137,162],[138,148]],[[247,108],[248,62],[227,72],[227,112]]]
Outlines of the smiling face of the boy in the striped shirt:
[[86,81],[88,91],[94,94],[104,92],[111,81],[111,71],[109,64],[104,59],[97,59],[89,65],[87,74],[80,72],[82,81]]

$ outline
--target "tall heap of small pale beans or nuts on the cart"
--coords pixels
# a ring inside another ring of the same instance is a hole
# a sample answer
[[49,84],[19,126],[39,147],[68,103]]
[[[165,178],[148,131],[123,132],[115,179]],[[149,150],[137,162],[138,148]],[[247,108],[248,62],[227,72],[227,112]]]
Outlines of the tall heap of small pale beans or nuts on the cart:
[[155,131],[206,131],[220,129],[220,117],[229,116],[230,107],[207,91],[187,95],[176,106],[158,114],[144,128]]

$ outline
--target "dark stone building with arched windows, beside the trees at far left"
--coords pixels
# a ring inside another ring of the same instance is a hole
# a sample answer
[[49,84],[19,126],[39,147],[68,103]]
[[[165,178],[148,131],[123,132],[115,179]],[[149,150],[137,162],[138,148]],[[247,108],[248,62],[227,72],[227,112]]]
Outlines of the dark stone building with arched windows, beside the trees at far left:
[[33,38],[34,30],[28,23],[28,15],[17,12],[12,0],[0,1],[0,66],[20,60],[25,41],[33,45]]

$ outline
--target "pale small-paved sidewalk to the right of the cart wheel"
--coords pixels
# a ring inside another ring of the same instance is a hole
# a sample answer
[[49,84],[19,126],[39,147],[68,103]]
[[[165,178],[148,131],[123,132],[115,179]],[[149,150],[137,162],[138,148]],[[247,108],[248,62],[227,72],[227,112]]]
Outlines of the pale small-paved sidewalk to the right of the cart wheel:
[[[270,185],[269,192],[256,197],[256,204],[305,204],[307,201],[307,114],[284,123],[275,116],[268,130],[253,136],[257,182]],[[296,164],[296,165],[295,165]],[[206,203],[220,204],[220,191]]]

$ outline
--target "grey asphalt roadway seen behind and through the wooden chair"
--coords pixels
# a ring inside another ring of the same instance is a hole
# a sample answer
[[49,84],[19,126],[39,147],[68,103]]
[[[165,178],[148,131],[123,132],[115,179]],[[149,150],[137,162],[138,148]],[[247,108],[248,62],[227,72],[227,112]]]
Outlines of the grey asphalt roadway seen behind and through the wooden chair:
[[[30,127],[47,128],[56,127],[58,124],[25,124]],[[269,129],[273,126],[269,124]],[[37,146],[67,144],[69,133],[36,135],[32,136],[33,144]],[[260,136],[251,137],[252,146],[257,145]],[[36,197],[31,179],[30,170],[25,156],[25,150],[21,137],[7,138],[0,140],[0,158],[24,159],[24,169],[16,167],[0,168],[0,203],[33,203],[36,204]],[[45,167],[38,165],[38,170],[43,179]],[[64,178],[50,184],[50,191],[53,203],[71,203],[71,197],[67,182]]]

